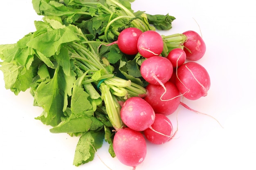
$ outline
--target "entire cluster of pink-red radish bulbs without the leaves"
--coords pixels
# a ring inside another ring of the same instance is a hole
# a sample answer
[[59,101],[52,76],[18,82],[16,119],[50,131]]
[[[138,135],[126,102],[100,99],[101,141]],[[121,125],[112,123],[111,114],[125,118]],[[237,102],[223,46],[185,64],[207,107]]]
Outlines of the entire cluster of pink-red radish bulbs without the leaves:
[[164,44],[156,31],[142,33],[139,29],[128,28],[115,42],[122,52],[140,53],[146,58],[140,71],[149,83],[147,94],[124,102],[120,116],[127,127],[117,130],[113,140],[119,161],[134,169],[146,157],[146,139],[153,144],[164,144],[175,135],[166,115],[174,113],[179,104],[186,106],[180,101],[181,96],[195,100],[206,96],[209,90],[209,74],[194,62],[204,55],[205,43],[195,31],[183,34],[187,38],[184,49],[173,49],[167,56],[160,56]]

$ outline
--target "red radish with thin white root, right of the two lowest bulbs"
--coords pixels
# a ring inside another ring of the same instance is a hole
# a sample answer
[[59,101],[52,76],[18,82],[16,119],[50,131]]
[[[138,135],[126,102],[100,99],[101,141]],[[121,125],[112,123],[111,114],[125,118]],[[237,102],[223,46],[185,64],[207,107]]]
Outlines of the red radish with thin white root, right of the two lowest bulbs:
[[[155,114],[155,121],[152,124],[152,128],[157,131],[153,131],[151,128],[144,130],[144,135],[148,141],[153,144],[164,144],[172,139],[173,126],[170,119],[162,114]],[[162,133],[162,134],[159,134]],[[166,136],[165,136],[166,135]]]

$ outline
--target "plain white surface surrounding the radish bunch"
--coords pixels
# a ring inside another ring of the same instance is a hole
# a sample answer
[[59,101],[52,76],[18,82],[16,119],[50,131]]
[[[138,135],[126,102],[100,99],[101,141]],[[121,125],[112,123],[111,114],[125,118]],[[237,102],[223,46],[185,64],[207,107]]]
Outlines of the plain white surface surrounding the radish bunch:
[[[211,77],[207,97],[186,104],[210,117],[179,108],[177,138],[167,144],[148,145],[137,170],[255,170],[256,157],[256,2],[251,0],[135,0],[132,9],[175,16],[173,29],[165,35],[187,30],[202,31],[207,45],[198,62]],[[29,0],[0,2],[0,44],[16,43],[35,30],[40,20]],[[200,29],[197,23],[200,25]],[[72,165],[78,138],[52,134],[35,120],[41,109],[32,106],[29,92],[15,96],[4,88],[0,73],[0,169],[79,170],[108,168],[95,155],[94,161]],[[176,127],[176,114],[170,115]],[[112,170],[131,170],[108,154],[108,144],[97,152]]]

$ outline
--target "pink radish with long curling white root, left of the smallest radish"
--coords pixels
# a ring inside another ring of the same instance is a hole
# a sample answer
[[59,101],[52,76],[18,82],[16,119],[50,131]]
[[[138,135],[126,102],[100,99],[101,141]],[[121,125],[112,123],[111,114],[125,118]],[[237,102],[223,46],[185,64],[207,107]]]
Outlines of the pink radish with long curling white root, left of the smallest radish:
[[171,78],[173,65],[165,57],[153,56],[142,62],[140,72],[148,83],[160,85]]

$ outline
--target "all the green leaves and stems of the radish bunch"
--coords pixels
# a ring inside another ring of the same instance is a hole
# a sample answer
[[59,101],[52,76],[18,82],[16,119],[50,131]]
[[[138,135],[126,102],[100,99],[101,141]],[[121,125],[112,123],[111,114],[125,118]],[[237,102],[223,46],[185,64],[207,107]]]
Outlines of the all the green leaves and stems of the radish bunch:
[[[30,89],[34,105],[43,108],[36,119],[52,126],[50,132],[80,136],[75,166],[92,161],[104,139],[115,157],[112,138],[124,126],[120,102],[146,94],[139,71],[145,59],[102,44],[117,40],[127,27],[171,29],[175,19],[134,12],[133,1],[32,0],[43,15],[34,22],[36,31],[15,44],[0,45],[5,88],[16,95]],[[163,37],[165,53],[180,46],[184,38],[179,38]]]

